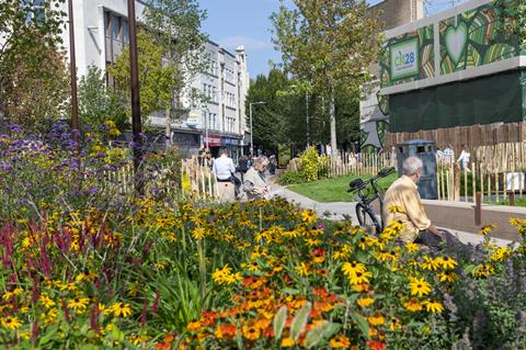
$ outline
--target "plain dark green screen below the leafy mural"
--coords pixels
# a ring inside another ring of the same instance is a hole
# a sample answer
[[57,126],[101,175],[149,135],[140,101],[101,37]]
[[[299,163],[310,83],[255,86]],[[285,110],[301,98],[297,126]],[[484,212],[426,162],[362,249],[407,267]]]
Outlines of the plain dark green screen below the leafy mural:
[[526,71],[521,70],[392,94],[389,131],[523,122],[525,101]]

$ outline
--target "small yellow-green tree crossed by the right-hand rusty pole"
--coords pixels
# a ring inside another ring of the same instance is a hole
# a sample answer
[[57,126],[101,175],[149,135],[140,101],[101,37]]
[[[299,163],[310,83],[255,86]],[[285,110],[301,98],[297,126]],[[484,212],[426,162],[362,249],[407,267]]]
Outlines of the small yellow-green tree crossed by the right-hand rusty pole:
[[[153,36],[139,29],[137,32],[139,64],[140,114],[142,121],[155,111],[163,110],[172,101],[172,87],[176,81],[173,66],[165,65],[164,50],[157,45]],[[107,72],[115,79],[115,89],[123,100],[130,100],[129,46],[124,47]],[[129,111],[128,111],[129,113]]]

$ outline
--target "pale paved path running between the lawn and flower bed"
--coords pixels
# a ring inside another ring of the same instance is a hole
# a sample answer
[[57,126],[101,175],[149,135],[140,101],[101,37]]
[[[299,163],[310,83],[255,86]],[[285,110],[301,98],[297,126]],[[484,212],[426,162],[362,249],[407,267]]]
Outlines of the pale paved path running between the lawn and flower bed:
[[[304,207],[311,208],[319,216],[328,215],[330,219],[343,219],[344,215],[348,215],[351,216],[351,219],[353,223],[357,224],[358,222],[356,218],[356,212],[355,212],[356,202],[320,203],[309,197],[306,197],[301,194],[287,190],[286,188],[281,187],[277,183],[273,183],[273,181],[270,181],[270,182],[271,182],[273,194],[283,196],[288,201],[298,203]],[[477,233],[466,233],[466,232],[450,229],[447,227],[441,227],[441,228],[447,229],[453,235],[457,236],[457,238],[464,244],[477,245],[483,240],[483,237],[481,235],[478,235]],[[505,240],[500,238],[493,238],[493,240],[499,246],[507,246],[508,244],[512,242],[511,240]]]

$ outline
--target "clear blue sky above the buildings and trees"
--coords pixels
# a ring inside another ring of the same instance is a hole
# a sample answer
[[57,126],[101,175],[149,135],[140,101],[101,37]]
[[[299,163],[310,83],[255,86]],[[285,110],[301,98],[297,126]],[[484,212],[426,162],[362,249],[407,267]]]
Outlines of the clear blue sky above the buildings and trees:
[[[382,0],[368,0],[376,4]],[[451,2],[459,3],[465,0],[426,0],[427,9],[432,12],[450,7]],[[272,44],[268,19],[272,12],[279,10],[279,0],[198,0],[199,7],[207,11],[207,19],[203,30],[208,33],[210,41],[219,44],[231,53],[236,47],[243,45],[248,55],[248,69],[250,76],[270,70],[268,61],[281,61],[281,54]],[[291,0],[285,0],[291,3]]]

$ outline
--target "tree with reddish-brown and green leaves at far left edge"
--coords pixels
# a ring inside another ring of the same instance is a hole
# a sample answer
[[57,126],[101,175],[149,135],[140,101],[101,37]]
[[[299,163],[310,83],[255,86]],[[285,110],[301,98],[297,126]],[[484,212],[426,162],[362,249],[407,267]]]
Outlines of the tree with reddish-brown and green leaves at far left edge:
[[[0,1],[0,116],[9,117],[7,113],[13,115],[21,111],[13,110],[16,99],[21,99],[21,104],[39,110],[27,115],[27,120],[46,115],[52,101],[43,100],[42,94],[50,93],[49,100],[55,101],[54,79],[62,83],[64,77],[64,61],[58,59],[60,54],[53,54],[59,52],[59,34],[66,15],[59,9],[64,1]],[[54,77],[55,74],[59,76]],[[24,90],[30,87],[35,89],[33,97]]]

